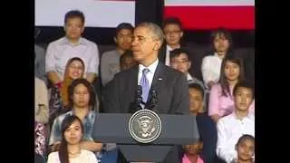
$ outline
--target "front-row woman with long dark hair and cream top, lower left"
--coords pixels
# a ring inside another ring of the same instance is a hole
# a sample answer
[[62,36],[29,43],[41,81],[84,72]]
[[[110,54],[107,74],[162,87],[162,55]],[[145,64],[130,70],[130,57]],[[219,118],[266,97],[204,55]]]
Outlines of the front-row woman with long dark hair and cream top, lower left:
[[47,163],[97,163],[92,151],[81,148],[83,132],[82,120],[77,116],[64,118],[60,149],[49,154]]

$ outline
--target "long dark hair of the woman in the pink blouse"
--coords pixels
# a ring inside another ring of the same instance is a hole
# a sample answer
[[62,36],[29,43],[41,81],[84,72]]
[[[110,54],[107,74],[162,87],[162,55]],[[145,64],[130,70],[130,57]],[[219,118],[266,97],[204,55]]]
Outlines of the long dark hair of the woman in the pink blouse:
[[236,57],[233,53],[228,53],[223,59],[220,68],[219,83],[221,86],[222,95],[227,97],[227,94],[231,94],[231,92],[229,91],[229,85],[225,75],[226,62],[235,62],[239,66],[238,82],[245,80],[245,67],[243,60]]

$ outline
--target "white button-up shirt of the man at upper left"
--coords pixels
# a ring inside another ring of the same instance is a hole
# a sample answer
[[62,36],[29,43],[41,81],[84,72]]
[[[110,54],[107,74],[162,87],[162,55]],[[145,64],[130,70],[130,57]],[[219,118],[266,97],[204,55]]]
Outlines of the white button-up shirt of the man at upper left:
[[56,72],[63,81],[65,65],[73,57],[79,57],[84,62],[84,72],[98,74],[99,50],[96,43],[80,38],[79,43],[73,45],[66,37],[49,43],[45,56],[45,72]]

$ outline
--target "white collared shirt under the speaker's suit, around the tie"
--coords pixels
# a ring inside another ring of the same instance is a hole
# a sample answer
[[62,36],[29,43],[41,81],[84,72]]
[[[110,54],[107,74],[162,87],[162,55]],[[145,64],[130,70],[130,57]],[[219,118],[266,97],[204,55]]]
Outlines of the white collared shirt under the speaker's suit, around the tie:
[[147,69],[150,70],[150,72],[148,72],[148,73],[146,74],[146,78],[148,79],[148,81],[149,81],[149,85],[150,85],[150,88],[151,88],[151,83],[152,83],[152,81],[153,81],[154,73],[155,73],[155,71],[156,71],[156,68],[157,68],[158,62],[159,62],[159,60],[156,59],[155,62],[152,62],[152,63],[150,64],[150,66],[148,66],[148,67],[145,67],[145,66],[143,66],[142,64],[139,64],[138,85],[140,85],[140,81],[141,81],[141,77],[142,77],[142,73],[143,73],[142,71],[143,71],[145,68],[147,68]]

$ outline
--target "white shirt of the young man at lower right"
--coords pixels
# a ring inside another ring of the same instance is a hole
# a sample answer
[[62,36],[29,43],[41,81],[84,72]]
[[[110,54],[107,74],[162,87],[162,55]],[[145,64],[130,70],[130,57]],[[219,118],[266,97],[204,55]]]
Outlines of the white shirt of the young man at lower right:
[[237,140],[244,134],[255,137],[255,115],[249,113],[243,120],[237,120],[235,111],[218,120],[217,155],[231,162],[237,158],[235,146]]

